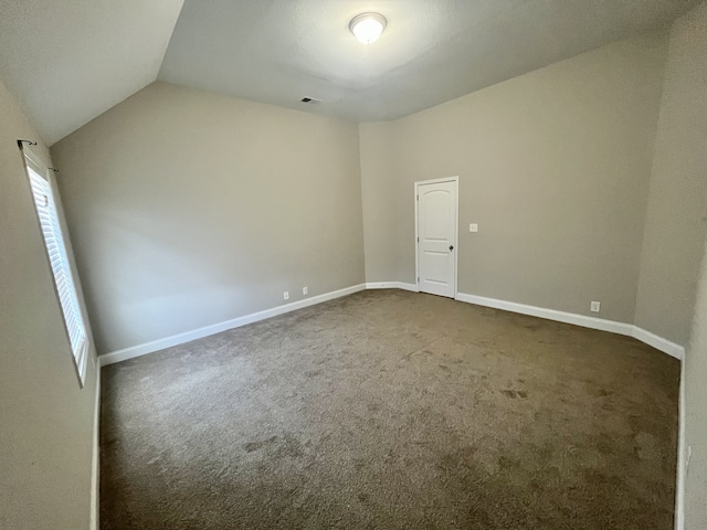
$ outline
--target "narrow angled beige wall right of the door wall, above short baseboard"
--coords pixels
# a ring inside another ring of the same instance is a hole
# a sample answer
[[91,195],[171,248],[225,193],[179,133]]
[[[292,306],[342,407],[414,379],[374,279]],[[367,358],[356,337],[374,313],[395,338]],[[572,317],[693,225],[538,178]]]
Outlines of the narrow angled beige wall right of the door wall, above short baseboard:
[[707,11],[671,31],[635,324],[686,346],[707,233]]

